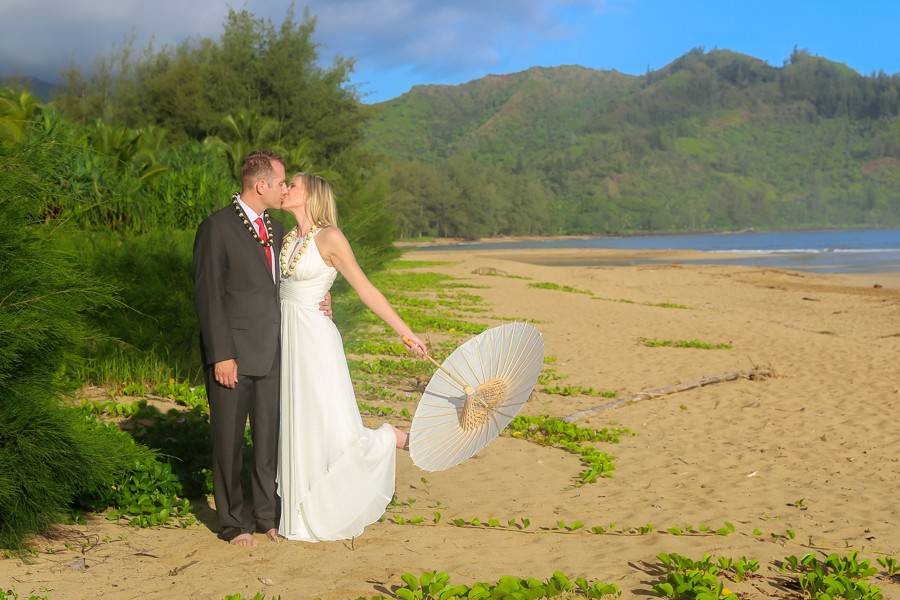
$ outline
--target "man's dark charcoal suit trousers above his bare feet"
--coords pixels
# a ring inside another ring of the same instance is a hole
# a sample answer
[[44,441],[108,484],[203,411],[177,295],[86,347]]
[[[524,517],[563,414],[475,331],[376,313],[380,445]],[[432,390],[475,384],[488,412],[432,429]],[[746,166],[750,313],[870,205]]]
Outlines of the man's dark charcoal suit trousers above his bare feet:
[[[215,369],[206,370],[209,421],[213,450],[213,493],[222,530],[219,537],[231,540],[240,533],[277,528],[281,500],[276,494],[278,469],[278,414],[281,366],[276,354],[272,369],[262,377],[241,375],[234,389],[219,385]],[[253,517],[244,516],[241,487],[241,452],[244,427],[250,417],[253,439]]]

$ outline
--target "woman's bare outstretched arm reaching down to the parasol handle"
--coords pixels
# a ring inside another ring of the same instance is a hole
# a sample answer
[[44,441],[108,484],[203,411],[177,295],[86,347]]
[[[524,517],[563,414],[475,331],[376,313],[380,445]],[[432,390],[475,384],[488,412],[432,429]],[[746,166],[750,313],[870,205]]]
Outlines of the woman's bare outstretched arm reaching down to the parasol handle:
[[363,273],[363,270],[356,262],[356,257],[353,255],[350,242],[347,241],[341,230],[337,227],[328,227],[317,236],[317,241],[319,242],[322,256],[353,286],[363,304],[368,306],[373,313],[396,331],[401,338],[412,340],[411,350],[413,352],[420,356],[427,354],[428,347],[425,345],[425,342],[420,340],[409,326],[403,322],[397,311],[384,297],[384,294],[378,291],[378,288],[372,285],[372,282]]

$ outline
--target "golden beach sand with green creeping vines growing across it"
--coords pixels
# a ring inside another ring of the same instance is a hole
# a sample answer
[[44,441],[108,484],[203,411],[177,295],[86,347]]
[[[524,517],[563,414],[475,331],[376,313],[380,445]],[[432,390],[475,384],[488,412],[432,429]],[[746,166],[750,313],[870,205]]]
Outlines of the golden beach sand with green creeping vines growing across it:
[[[763,577],[729,587],[745,598],[768,598],[790,597],[773,587],[773,561],[816,552],[811,546],[841,553],[849,546],[873,559],[900,554],[900,277],[665,262],[683,259],[683,253],[655,253],[663,262],[652,266],[558,266],[567,252],[429,251],[406,258],[453,261],[431,269],[486,286],[477,293],[494,314],[536,320],[546,353],[566,375],[562,384],[629,394],[754,364],[771,367],[778,377],[646,400],[581,422],[625,426],[637,434],[603,445],[615,457],[615,473],[584,487],[572,486],[580,470],[576,457],[509,437],[442,473],[424,473],[401,453],[397,495],[416,502],[400,514],[430,517],[438,510],[443,519],[437,526],[377,523],[352,545],[272,544],[257,536],[259,546],[247,550],[218,541],[203,524],[140,530],[94,518],[62,528],[68,547],[45,540],[41,546],[53,553],[27,562],[0,560],[0,587],[54,600],[256,592],[337,599],[389,591],[405,571],[437,569],[472,582],[500,575],[546,578],[560,569],[615,583],[630,598],[652,595],[656,578],[648,571],[658,553],[709,552],[759,559]],[[639,255],[578,252],[624,261]],[[551,264],[535,264],[541,262]],[[472,274],[479,267],[605,299]],[[659,302],[690,309],[641,304]],[[649,348],[639,343],[642,337],[698,338],[728,342],[732,349]],[[565,416],[602,401],[537,393],[523,413]],[[537,532],[446,524],[474,516],[503,523],[527,516]],[[201,517],[214,524],[211,510]],[[559,519],[588,527],[652,523],[657,531],[620,536],[538,529]],[[725,521],[736,533],[659,532]],[[794,539],[772,537],[788,530]],[[86,568],[78,569],[82,558]],[[886,598],[900,598],[900,584],[872,582]]]

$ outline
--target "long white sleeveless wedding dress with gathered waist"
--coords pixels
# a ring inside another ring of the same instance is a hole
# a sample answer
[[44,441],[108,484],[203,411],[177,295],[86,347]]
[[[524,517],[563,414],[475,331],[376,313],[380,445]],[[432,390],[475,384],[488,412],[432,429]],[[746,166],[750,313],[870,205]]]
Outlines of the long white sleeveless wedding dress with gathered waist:
[[[282,249],[292,257],[300,240]],[[278,533],[318,542],[356,537],[394,495],[396,437],[363,425],[341,335],[319,310],[337,270],[315,238],[281,280]]]

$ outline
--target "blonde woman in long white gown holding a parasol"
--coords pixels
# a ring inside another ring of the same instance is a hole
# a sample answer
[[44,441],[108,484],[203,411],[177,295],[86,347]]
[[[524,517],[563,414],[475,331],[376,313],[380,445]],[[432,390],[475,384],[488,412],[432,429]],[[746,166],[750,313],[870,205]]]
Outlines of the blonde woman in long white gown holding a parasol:
[[336,227],[331,186],[300,173],[282,208],[297,218],[281,250],[281,427],[279,535],[317,542],[360,535],[394,494],[396,449],[408,434],[385,423],[363,426],[341,336],[319,311],[338,273],[363,303],[418,356],[427,347],[360,269]]

